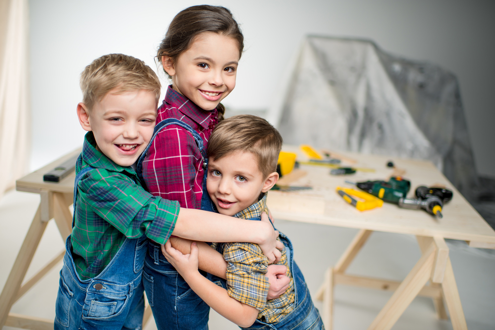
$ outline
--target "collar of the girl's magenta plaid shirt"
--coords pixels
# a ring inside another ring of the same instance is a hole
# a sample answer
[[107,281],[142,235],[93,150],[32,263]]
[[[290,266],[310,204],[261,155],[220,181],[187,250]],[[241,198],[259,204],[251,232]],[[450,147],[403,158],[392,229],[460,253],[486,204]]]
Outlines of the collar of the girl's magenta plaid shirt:
[[[210,125],[210,117],[217,118],[217,109],[207,111],[197,106],[190,99],[184,95],[178,93],[172,88],[172,85],[168,86],[164,99],[165,103],[171,106],[176,106],[177,110],[189,117],[194,122],[198,123],[204,129],[207,129]],[[166,105],[165,105],[166,106]]]

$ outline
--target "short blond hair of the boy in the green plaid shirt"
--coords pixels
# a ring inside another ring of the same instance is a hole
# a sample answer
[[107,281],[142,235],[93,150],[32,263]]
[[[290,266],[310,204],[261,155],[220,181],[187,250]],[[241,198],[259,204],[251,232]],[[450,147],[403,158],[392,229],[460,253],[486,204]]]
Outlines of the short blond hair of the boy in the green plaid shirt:
[[161,84],[157,74],[142,60],[124,54],[108,54],[95,59],[81,73],[83,103],[89,111],[110,91],[116,93],[146,90],[155,94],[158,104]]

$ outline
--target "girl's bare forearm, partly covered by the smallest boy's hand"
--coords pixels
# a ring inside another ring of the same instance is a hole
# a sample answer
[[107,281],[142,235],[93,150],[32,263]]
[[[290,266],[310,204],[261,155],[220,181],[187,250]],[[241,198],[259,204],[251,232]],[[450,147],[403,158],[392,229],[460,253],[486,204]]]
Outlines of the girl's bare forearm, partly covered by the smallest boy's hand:
[[[182,252],[182,254],[191,253],[191,240],[181,237],[170,237],[172,247]],[[223,259],[220,252],[214,250],[205,242],[197,242],[199,248],[199,269],[218,276],[226,280],[227,262]]]

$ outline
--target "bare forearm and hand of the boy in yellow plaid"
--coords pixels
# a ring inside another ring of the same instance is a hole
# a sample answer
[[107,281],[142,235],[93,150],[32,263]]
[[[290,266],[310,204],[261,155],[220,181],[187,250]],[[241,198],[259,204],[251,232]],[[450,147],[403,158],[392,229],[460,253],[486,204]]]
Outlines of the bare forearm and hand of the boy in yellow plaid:
[[227,290],[210,282],[198,272],[196,242],[191,243],[191,253],[183,255],[167,241],[164,255],[193,291],[221,316],[243,328],[251,326],[256,321],[258,316],[256,308],[229,297]]

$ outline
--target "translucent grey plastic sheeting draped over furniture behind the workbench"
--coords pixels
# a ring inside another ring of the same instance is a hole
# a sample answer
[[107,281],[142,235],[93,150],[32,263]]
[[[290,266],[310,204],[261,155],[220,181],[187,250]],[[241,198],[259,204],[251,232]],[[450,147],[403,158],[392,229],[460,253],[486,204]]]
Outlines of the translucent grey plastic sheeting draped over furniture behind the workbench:
[[275,104],[286,143],[429,159],[466,197],[478,186],[459,85],[439,66],[310,36]]

